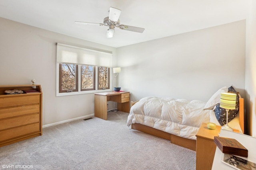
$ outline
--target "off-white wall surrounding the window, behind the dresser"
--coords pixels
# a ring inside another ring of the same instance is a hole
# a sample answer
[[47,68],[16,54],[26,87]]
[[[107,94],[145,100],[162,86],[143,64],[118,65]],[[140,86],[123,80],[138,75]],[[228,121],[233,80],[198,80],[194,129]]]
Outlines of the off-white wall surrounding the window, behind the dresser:
[[94,114],[94,94],[56,97],[57,42],[113,51],[116,61],[116,48],[0,18],[0,85],[36,79],[43,92],[43,125]]

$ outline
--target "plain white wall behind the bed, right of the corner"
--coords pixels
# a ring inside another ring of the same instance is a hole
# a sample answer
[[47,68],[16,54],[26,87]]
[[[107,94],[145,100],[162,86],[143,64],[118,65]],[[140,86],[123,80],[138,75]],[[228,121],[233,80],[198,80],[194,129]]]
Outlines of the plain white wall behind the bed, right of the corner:
[[145,96],[207,101],[231,85],[245,97],[245,36],[242,20],[119,47],[120,86],[134,101]]

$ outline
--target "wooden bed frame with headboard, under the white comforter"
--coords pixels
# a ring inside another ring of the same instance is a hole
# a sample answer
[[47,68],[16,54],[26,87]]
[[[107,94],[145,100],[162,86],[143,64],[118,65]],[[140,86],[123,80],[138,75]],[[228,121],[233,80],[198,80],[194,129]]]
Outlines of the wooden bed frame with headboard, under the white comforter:
[[[238,96],[239,96],[239,124],[242,129],[242,132],[244,133],[244,98],[241,98],[240,95]],[[131,102],[131,106],[133,106],[136,102]],[[156,137],[167,139],[173,144],[196,151],[196,140],[186,139],[183,137],[172,135],[170,133],[160,131],[158,129],[154,129],[152,127],[142,125],[140,123],[131,124],[131,128],[144,133],[148,133],[150,135],[154,135]]]

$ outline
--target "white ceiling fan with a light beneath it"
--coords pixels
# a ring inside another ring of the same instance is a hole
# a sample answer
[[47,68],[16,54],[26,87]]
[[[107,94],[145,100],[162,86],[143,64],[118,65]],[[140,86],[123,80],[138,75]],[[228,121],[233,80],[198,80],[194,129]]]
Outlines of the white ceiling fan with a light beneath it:
[[144,28],[140,27],[133,27],[129,25],[120,25],[120,20],[118,19],[121,14],[121,10],[118,10],[116,8],[110,7],[109,10],[109,16],[104,18],[103,23],[90,23],[90,22],[81,22],[81,21],[75,21],[77,24],[84,24],[84,25],[104,25],[108,26],[109,29],[107,30],[107,38],[112,38],[114,35],[114,29],[115,27],[118,27],[123,30],[127,31],[134,31],[138,33],[143,33]]

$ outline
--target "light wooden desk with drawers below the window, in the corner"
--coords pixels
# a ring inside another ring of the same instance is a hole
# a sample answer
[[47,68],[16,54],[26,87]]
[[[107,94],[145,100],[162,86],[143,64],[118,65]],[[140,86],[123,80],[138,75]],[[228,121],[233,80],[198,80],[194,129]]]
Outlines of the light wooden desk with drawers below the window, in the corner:
[[94,116],[107,120],[108,101],[117,102],[117,109],[130,112],[130,92],[94,93]]

